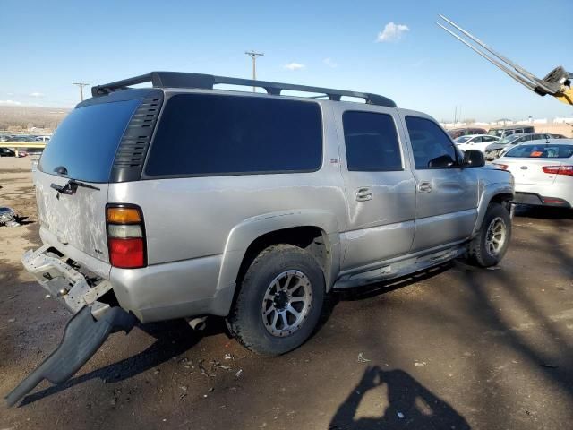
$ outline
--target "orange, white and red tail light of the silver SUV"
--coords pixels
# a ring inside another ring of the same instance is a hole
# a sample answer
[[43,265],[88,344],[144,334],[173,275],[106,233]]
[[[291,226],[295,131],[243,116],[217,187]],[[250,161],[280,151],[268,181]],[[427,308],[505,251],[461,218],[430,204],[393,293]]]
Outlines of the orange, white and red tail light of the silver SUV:
[[121,269],[145,267],[147,250],[141,208],[132,204],[107,205],[106,220],[111,265]]

